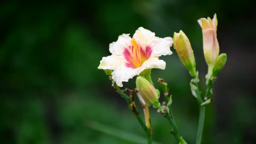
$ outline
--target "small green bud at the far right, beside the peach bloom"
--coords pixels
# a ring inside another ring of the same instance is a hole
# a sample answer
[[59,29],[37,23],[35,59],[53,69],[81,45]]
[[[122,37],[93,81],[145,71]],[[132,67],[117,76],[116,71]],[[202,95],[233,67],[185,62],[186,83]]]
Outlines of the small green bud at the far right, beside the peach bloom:
[[216,63],[214,64],[213,67],[213,76],[216,76],[219,74],[219,72],[221,71],[221,69],[224,67],[224,65],[226,64],[227,61],[227,54],[226,53],[221,53],[217,60]]

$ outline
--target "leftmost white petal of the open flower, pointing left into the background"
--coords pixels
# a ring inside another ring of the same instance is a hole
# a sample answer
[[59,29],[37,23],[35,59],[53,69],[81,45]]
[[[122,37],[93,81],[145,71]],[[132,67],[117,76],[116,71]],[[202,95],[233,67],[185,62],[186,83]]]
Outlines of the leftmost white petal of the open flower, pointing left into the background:
[[125,63],[122,56],[111,55],[103,57],[100,61],[98,69],[116,69],[120,64]]

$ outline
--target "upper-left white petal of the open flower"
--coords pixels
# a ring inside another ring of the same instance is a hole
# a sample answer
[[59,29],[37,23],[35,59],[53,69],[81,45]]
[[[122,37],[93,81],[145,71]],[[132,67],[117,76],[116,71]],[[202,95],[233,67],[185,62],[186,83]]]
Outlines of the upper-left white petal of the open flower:
[[131,45],[131,37],[130,34],[120,35],[116,42],[109,44],[109,51],[112,54],[122,55],[124,48]]

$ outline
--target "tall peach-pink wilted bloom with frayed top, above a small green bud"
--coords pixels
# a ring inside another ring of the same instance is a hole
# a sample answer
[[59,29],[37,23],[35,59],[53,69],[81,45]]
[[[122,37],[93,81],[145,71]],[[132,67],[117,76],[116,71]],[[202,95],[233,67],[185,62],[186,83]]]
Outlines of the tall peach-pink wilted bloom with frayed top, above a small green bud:
[[217,15],[213,19],[201,18],[198,20],[203,32],[203,53],[208,66],[213,66],[219,56],[219,43],[217,40]]

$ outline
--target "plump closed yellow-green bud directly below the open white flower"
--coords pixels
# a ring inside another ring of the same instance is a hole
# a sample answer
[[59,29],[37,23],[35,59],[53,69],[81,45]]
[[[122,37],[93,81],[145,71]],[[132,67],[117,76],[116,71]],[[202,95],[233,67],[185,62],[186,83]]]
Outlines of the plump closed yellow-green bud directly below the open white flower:
[[157,90],[148,80],[141,76],[137,77],[136,87],[147,104],[153,105],[155,108],[161,107],[158,101],[159,96]]

